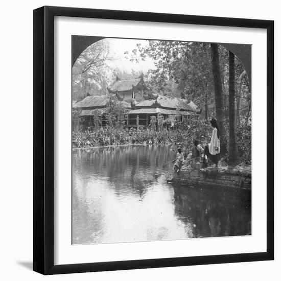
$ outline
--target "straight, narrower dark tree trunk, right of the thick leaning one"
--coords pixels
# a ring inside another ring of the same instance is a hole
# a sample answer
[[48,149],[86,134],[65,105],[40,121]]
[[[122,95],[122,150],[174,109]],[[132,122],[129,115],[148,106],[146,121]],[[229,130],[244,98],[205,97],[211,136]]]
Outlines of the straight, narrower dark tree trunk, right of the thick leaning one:
[[235,126],[235,56],[229,52],[229,146],[228,162],[230,165],[236,165],[239,160],[239,152],[236,140]]

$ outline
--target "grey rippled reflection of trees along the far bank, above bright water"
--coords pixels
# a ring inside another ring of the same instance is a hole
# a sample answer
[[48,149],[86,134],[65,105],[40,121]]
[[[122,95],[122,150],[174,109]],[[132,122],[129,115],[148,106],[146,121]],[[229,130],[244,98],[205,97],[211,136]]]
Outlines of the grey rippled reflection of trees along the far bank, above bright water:
[[[175,158],[171,146],[125,146],[73,151],[73,173],[106,177],[118,196],[137,194],[143,198],[148,186],[166,173],[163,163]],[[124,194],[126,192],[126,194]]]

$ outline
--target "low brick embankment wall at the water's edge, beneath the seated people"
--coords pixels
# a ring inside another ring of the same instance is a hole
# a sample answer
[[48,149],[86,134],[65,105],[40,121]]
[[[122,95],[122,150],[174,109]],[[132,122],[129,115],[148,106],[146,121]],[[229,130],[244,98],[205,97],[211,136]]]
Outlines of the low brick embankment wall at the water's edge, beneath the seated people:
[[174,173],[168,182],[188,186],[215,186],[251,189],[252,174],[249,170],[238,169],[192,169],[185,168]]

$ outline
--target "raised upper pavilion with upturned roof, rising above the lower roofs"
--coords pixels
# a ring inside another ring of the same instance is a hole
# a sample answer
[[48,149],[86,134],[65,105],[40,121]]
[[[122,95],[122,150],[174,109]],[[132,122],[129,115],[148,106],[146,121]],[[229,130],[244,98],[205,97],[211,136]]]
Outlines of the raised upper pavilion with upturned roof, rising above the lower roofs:
[[108,88],[109,93],[115,93],[120,100],[127,103],[130,103],[132,99],[137,102],[143,101],[145,90],[147,86],[143,75],[130,80],[121,80],[117,77],[114,84]]

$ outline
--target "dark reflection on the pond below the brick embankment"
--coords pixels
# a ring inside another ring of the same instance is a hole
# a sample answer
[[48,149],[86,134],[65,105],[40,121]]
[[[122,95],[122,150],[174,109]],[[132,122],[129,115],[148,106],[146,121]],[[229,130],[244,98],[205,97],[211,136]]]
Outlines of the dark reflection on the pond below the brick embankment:
[[251,193],[245,190],[174,186],[175,213],[193,224],[193,237],[251,234]]

